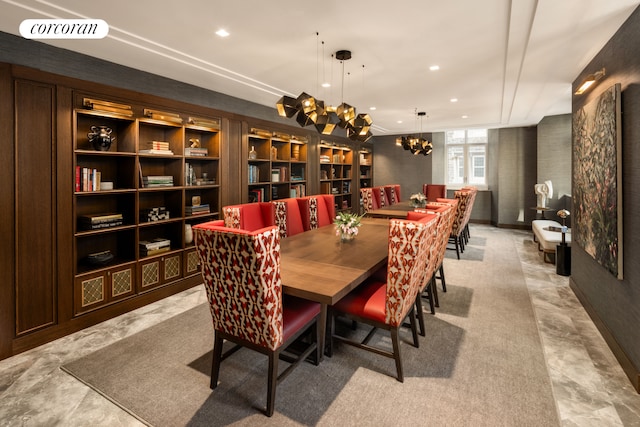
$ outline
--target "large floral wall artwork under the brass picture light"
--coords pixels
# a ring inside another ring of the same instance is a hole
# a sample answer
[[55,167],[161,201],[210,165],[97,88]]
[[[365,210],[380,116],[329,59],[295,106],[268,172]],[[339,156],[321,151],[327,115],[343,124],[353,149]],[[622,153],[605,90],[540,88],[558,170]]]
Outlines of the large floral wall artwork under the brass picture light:
[[620,84],[573,116],[573,241],[622,279]]

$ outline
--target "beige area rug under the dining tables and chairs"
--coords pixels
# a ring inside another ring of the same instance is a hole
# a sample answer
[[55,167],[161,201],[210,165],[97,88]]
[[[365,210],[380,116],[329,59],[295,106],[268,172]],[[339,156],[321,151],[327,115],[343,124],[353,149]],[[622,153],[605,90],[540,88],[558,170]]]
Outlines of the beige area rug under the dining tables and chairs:
[[[209,389],[211,317],[201,305],[63,367],[153,426],[557,426],[540,337],[513,240],[472,229],[445,260],[448,292],[420,348],[405,331],[405,382],[391,359],[340,345],[301,364],[266,403],[266,357],[240,350]],[[428,304],[425,304],[428,307]],[[356,331],[355,333],[361,333]],[[380,343],[389,340],[377,334]],[[283,363],[284,364],[284,363]]]

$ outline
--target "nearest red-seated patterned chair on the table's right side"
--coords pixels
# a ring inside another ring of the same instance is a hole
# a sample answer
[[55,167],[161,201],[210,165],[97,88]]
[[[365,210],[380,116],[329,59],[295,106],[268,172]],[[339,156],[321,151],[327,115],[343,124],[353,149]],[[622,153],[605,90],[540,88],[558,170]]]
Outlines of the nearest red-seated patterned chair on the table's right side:
[[[430,223],[392,219],[389,221],[389,259],[387,280],[367,281],[332,306],[331,344],[333,340],[353,345],[395,360],[397,379],[404,381],[398,334],[407,319],[411,323],[413,345],[419,346],[415,303],[424,279],[428,248],[433,241],[435,220]],[[344,316],[358,324],[372,326],[363,341],[353,341],[334,333],[335,318]],[[368,345],[376,329],[390,332],[392,350]]]

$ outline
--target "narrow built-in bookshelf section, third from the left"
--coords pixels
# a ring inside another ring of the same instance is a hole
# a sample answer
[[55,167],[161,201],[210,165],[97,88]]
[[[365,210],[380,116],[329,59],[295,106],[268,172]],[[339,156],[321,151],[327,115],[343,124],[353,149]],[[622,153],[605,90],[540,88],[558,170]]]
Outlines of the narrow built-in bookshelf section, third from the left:
[[352,210],[353,150],[351,147],[321,141],[319,147],[320,193],[333,194],[336,210]]

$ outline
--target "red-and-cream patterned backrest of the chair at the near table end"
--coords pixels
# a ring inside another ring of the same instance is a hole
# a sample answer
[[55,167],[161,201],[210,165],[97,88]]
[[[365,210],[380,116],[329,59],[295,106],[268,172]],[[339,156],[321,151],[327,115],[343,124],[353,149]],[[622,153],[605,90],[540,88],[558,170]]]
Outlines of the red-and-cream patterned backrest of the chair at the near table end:
[[204,223],[193,230],[215,330],[277,349],[283,342],[278,228]]

